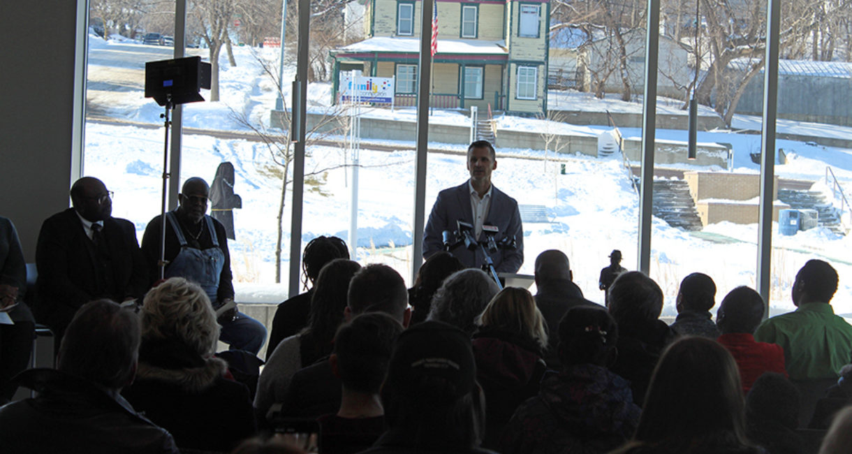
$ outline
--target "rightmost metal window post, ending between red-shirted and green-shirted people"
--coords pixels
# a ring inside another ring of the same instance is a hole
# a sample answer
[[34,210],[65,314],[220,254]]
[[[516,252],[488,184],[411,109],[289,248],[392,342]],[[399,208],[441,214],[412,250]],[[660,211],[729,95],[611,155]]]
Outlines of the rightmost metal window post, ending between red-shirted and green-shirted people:
[[778,108],[778,50],[780,0],[769,0],[766,9],[766,66],[763,68],[763,131],[760,158],[760,219],[757,237],[757,292],[766,302],[769,316],[772,290],[772,212],[775,175],[775,120]]

